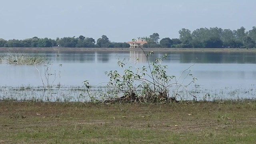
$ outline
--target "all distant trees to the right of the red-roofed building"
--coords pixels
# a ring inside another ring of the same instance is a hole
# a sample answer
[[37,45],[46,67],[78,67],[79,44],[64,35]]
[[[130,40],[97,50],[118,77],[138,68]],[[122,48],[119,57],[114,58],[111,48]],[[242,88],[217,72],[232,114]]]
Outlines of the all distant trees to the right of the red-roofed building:
[[142,37],[148,42],[144,48],[255,48],[256,27],[245,31],[244,27],[237,30],[222,28],[198,28],[191,32],[182,28],[180,38],[163,38],[158,42],[159,34],[154,33]]

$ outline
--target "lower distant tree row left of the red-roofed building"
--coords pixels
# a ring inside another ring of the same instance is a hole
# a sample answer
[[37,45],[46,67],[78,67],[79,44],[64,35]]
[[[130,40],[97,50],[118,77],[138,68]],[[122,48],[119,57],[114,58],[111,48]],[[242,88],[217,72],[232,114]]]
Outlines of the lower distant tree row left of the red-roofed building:
[[80,35],[78,38],[27,38],[24,40],[4,40],[0,38],[0,47],[54,47],[60,46],[65,48],[129,48],[130,44],[126,42],[110,42],[107,36],[103,35],[98,38],[97,42],[93,38],[86,38]]

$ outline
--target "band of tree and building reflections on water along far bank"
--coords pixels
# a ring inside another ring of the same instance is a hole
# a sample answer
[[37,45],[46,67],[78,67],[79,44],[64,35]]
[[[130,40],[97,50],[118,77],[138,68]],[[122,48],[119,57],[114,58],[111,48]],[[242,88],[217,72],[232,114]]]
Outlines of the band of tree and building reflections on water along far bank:
[[[7,53],[0,53],[6,55]],[[35,52],[26,52],[25,54],[35,54]],[[142,51],[130,52],[90,52],[90,51],[44,51],[36,52],[38,55],[47,56],[47,58],[54,59],[56,54],[60,57],[58,62],[68,63],[107,63],[117,58],[126,58],[136,60],[137,58],[141,63],[146,63],[147,58]],[[148,54],[148,52],[146,52]],[[154,52],[149,57],[150,62],[156,58],[168,54],[166,62],[173,63],[217,63],[217,64],[256,64],[256,53],[254,52]]]

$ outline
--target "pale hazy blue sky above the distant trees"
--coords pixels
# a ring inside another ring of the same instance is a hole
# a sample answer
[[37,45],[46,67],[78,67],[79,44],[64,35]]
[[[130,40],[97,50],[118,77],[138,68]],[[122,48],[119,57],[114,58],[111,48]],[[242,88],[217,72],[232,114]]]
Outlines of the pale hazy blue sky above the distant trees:
[[182,28],[246,31],[256,26],[256,0],[1,0],[0,38],[80,36],[111,42],[158,33],[179,38]]

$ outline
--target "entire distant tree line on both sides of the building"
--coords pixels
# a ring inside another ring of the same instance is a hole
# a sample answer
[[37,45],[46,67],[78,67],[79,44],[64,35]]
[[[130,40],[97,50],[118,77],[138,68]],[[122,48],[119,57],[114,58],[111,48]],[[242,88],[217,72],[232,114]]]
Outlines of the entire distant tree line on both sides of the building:
[[[179,30],[179,38],[162,38],[158,33],[139,37],[146,39],[148,43],[144,48],[255,48],[256,27],[246,31],[244,27],[237,30],[222,28],[198,28],[191,32],[182,28]],[[160,40],[160,41],[159,41]],[[95,41],[80,35],[79,37],[64,38],[28,38],[24,40],[4,40],[0,38],[0,47],[69,47],[69,48],[129,48],[126,42],[111,42],[107,36],[102,35]]]

